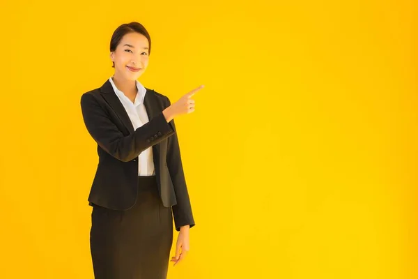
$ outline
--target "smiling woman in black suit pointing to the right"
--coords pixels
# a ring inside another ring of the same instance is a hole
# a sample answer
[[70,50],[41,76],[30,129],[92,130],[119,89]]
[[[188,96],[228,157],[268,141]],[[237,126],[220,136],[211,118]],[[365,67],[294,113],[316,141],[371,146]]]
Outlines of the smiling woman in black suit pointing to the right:
[[192,96],[169,98],[137,81],[151,50],[138,22],[122,24],[110,42],[114,75],[82,95],[88,133],[99,163],[88,197],[91,256],[98,279],[167,278],[173,218],[178,264],[194,226],[173,118],[194,112]]

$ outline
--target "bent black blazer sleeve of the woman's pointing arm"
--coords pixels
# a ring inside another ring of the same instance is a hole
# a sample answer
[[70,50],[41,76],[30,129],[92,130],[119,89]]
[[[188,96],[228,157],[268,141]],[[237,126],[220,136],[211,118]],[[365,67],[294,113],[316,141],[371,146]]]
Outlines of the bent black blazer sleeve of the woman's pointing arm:
[[109,115],[93,94],[82,95],[81,107],[84,123],[91,137],[104,151],[123,162],[137,158],[142,151],[173,135],[175,131],[161,112],[148,123],[137,128],[134,133],[125,136],[109,119]]

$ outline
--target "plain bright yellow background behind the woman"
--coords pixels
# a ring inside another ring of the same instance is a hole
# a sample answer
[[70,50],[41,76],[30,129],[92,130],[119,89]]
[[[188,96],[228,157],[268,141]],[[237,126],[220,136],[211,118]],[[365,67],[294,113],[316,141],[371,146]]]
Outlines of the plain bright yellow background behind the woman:
[[197,225],[169,278],[418,278],[414,2],[1,1],[0,278],[93,278],[79,99],[130,21],[145,86],[206,85],[176,119]]

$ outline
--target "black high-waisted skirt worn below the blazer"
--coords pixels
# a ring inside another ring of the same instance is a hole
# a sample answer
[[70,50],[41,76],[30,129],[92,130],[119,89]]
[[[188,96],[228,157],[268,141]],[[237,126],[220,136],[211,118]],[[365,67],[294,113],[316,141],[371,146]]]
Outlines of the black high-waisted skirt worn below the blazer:
[[95,279],[166,279],[172,243],[171,207],[162,205],[156,176],[139,176],[137,202],[127,211],[93,204]]

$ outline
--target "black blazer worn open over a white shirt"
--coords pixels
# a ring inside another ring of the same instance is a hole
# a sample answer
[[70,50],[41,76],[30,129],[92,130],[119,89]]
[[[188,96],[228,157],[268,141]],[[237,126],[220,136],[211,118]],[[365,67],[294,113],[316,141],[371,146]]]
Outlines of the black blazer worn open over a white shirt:
[[134,130],[109,80],[84,93],[81,107],[88,133],[98,144],[99,163],[88,202],[108,209],[127,210],[137,201],[138,156],[153,146],[153,160],[162,204],[172,206],[176,230],[194,226],[192,208],[180,158],[174,120],[162,111],[169,98],[146,89],[144,105],[150,121]]

